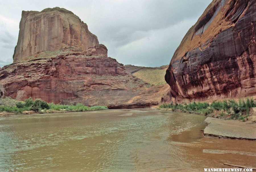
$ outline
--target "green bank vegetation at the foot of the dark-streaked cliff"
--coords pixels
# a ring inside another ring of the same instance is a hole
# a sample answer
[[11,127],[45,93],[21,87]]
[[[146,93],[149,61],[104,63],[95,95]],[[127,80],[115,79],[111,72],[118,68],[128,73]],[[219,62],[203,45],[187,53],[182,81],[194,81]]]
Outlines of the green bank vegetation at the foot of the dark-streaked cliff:
[[159,108],[162,109],[171,109],[172,111],[182,111],[204,115],[216,113],[220,117],[230,116],[230,119],[239,119],[242,121],[245,121],[245,119],[247,119],[251,107],[256,107],[256,101],[254,101],[252,98],[247,98],[246,100],[239,100],[238,102],[235,100],[223,100],[214,101],[211,104],[207,102],[192,102],[189,104],[164,103],[159,106]]

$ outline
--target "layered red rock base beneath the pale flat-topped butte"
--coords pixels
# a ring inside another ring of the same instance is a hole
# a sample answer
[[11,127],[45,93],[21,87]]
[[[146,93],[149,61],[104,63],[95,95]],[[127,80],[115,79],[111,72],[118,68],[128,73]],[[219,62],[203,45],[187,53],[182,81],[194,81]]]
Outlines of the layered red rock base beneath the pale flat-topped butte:
[[115,59],[106,57],[104,47],[97,45],[88,51],[68,47],[35,54],[26,61],[1,68],[1,84],[12,98],[18,90],[24,90],[22,100],[32,97],[54,103],[110,108],[158,104],[169,86],[151,87],[144,83],[125,71]]

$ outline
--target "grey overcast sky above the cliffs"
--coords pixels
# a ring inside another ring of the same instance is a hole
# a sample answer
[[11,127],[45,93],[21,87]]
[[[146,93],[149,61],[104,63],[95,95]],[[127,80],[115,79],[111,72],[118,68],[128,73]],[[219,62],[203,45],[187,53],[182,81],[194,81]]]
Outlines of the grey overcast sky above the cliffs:
[[182,38],[211,0],[0,1],[0,66],[13,63],[21,12],[61,7],[83,20],[108,56],[125,65],[170,63]]

